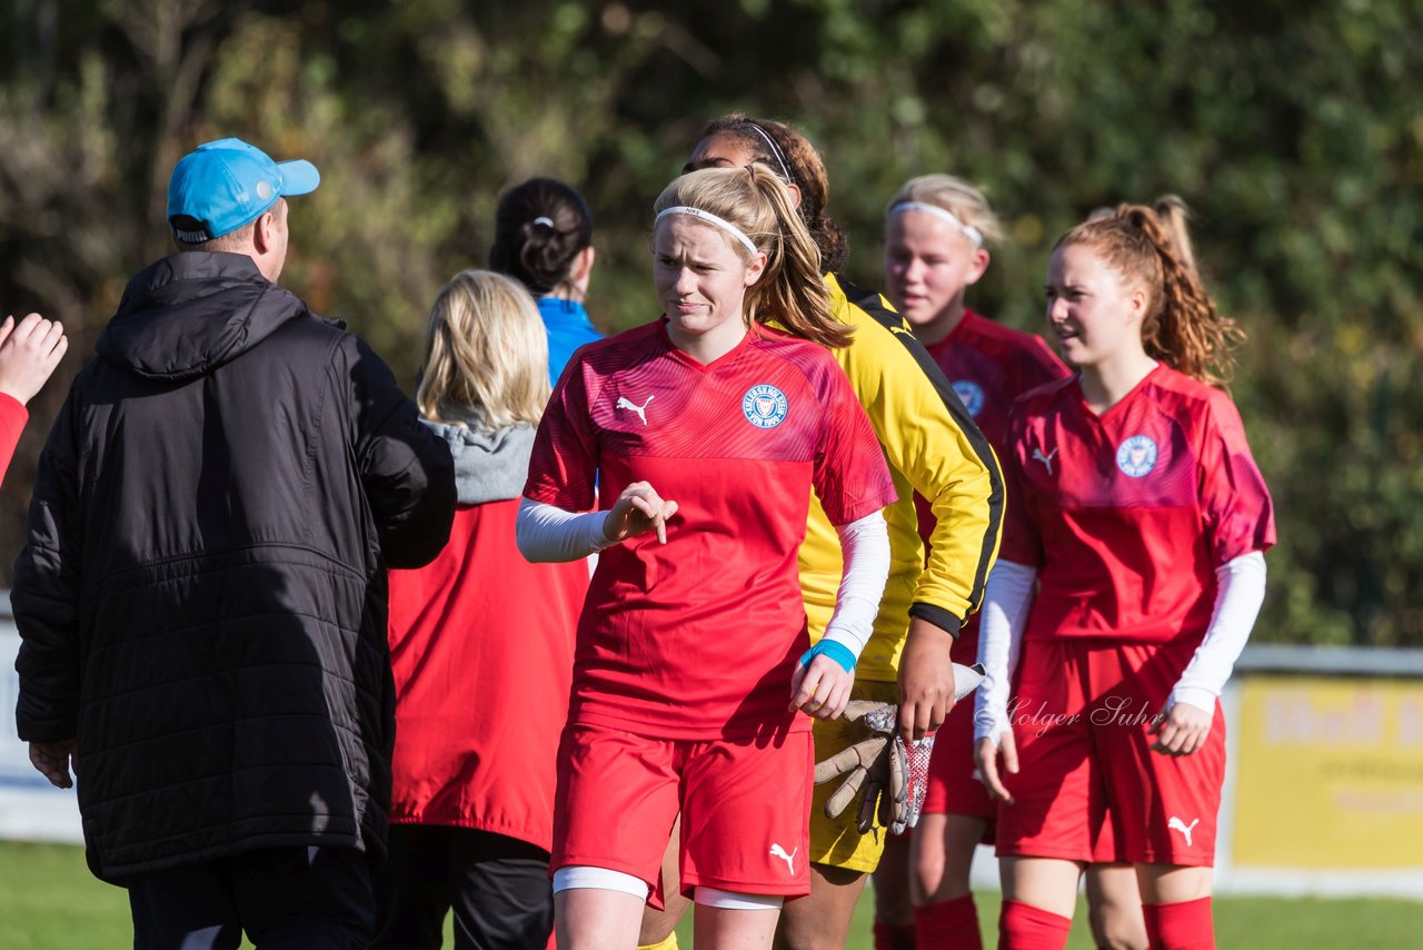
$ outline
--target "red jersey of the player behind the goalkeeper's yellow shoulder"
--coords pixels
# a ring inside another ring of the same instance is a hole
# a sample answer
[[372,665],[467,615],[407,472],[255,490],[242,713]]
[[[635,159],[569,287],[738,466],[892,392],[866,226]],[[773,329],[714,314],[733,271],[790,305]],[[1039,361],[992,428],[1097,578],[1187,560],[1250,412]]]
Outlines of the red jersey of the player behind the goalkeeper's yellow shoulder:
[[[1013,400],[1030,389],[1069,376],[1067,367],[1039,336],[995,323],[965,309],[963,319],[946,338],[928,348],[963,407],[979,430],[1003,457],[1007,439],[1007,413]],[[1007,503],[1015,504],[1015,499]],[[933,510],[921,496],[914,496],[919,513],[919,537],[925,553],[933,533]],[[953,659],[973,664],[978,658],[978,614],[968,618],[953,642]]]

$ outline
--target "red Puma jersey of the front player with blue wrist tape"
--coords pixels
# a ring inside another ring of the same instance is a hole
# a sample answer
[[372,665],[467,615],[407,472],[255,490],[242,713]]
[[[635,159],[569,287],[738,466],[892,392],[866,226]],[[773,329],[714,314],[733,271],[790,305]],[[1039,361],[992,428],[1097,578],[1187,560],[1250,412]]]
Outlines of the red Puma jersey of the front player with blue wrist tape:
[[810,647],[795,554],[810,491],[835,524],[895,500],[874,430],[821,346],[756,328],[703,366],[665,322],[573,355],[524,494],[608,508],[632,481],[679,504],[667,543],[603,551],[578,625],[571,722],[667,739],[810,728],[787,712]]

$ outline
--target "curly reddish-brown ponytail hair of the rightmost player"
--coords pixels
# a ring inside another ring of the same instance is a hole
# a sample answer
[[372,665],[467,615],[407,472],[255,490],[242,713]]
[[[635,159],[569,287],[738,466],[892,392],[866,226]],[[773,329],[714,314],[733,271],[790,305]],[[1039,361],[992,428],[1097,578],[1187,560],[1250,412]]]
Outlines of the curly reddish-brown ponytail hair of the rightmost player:
[[1070,244],[1089,246],[1124,279],[1140,283],[1150,295],[1141,323],[1147,356],[1202,383],[1224,386],[1235,369],[1231,350],[1245,339],[1245,330],[1217,312],[1201,283],[1188,214],[1175,195],[1151,207],[1118,205],[1064,234],[1053,251]]

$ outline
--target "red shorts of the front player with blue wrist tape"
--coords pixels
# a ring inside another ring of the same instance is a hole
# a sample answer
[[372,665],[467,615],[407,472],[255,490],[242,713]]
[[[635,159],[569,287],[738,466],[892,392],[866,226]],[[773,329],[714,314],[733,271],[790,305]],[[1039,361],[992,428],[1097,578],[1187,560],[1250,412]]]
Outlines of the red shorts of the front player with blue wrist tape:
[[647,882],[662,907],[662,855],[682,815],[682,893],[810,893],[808,731],[757,739],[650,739],[569,725],[558,748],[549,872],[586,865]]

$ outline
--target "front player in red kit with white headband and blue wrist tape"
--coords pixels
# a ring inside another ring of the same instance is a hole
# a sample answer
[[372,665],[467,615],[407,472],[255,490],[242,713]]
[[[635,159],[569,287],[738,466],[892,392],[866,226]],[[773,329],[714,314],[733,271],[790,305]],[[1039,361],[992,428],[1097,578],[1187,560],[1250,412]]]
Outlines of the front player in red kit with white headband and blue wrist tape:
[[[655,211],[665,315],[569,362],[518,520],[529,560],[601,551],[558,752],[558,944],[636,946],[680,813],[697,943],[770,947],[781,902],[810,889],[813,746],[797,711],[838,716],[850,698],[895,491],[827,349],[850,335],[785,185],[764,165],[699,171]],[[807,649],[811,490],[845,570]]]

